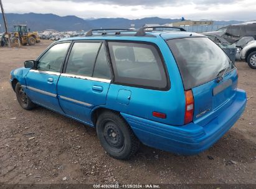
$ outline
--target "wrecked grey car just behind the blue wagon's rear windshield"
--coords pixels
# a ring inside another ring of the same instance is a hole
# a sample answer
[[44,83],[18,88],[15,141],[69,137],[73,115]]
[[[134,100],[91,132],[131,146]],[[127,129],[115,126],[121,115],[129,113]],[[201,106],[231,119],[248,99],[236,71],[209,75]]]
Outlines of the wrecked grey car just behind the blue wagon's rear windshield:
[[222,50],[224,50],[224,52],[229,56],[230,60],[232,60],[232,62],[235,63],[235,57],[237,53],[237,47],[235,47],[235,44],[230,44],[230,42],[225,40],[224,37],[221,37],[216,34],[207,34],[207,33],[202,33],[202,34],[206,35],[214,43],[219,45],[219,47],[222,48]]

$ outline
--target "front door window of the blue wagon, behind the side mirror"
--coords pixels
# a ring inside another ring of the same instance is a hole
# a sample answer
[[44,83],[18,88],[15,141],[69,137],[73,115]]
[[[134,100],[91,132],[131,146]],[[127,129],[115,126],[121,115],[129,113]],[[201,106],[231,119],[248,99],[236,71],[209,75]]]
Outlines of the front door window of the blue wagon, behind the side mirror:
[[64,63],[70,43],[56,44],[42,55],[37,64],[37,69],[42,71],[60,71]]

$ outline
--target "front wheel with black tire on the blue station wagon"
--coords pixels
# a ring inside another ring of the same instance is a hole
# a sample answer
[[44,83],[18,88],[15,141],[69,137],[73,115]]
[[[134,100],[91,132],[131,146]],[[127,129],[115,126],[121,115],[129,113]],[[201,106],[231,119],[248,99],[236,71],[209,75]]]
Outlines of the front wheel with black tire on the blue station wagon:
[[21,105],[21,108],[30,110],[36,107],[36,104],[32,103],[31,99],[27,96],[27,94],[24,92],[21,83],[17,83],[15,86],[15,92],[17,101]]

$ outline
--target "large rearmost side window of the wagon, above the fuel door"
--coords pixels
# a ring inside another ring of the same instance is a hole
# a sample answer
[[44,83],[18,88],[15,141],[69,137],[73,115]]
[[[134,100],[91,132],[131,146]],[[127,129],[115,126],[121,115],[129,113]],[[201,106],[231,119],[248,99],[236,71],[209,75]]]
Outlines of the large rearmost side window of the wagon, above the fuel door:
[[168,81],[158,50],[151,44],[108,42],[115,82],[166,89]]

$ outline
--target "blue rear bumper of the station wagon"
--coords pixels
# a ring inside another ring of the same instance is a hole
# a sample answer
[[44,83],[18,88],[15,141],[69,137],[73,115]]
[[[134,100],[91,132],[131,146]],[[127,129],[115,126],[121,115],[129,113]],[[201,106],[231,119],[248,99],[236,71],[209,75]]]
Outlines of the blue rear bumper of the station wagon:
[[235,100],[206,126],[193,122],[184,126],[170,126],[121,113],[140,141],[156,149],[176,154],[192,155],[209,149],[235,124],[244,112],[246,93],[237,90]]

